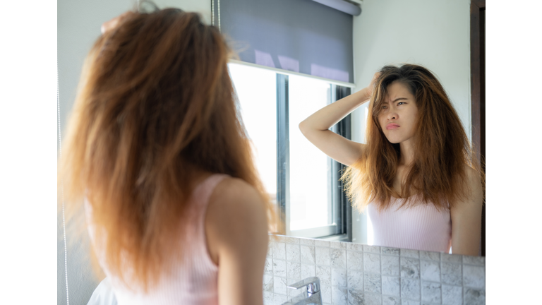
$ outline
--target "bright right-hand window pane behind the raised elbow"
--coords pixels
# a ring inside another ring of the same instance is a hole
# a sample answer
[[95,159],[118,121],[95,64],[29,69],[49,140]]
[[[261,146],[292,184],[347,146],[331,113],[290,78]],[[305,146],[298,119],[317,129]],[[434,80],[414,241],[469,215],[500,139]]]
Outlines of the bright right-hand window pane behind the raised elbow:
[[297,125],[331,102],[331,84],[289,76],[290,229],[333,224],[331,159],[299,131]]

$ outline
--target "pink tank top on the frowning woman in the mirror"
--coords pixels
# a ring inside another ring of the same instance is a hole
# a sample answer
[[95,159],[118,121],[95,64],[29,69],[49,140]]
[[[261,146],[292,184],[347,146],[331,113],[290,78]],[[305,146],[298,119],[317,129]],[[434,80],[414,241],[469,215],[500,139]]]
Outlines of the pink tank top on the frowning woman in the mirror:
[[399,208],[401,200],[392,197],[389,208],[378,212],[368,205],[373,224],[374,245],[422,251],[450,251],[452,219],[450,210],[440,212],[433,204]]

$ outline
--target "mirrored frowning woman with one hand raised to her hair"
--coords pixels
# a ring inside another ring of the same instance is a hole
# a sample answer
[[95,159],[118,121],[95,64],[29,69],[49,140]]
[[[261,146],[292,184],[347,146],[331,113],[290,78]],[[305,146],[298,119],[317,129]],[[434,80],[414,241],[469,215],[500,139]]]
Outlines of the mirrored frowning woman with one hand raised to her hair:
[[[328,130],[368,100],[366,144]],[[299,128],[349,166],[342,179],[356,208],[368,208],[375,245],[478,255],[483,179],[459,116],[428,69],[385,66],[368,87]]]

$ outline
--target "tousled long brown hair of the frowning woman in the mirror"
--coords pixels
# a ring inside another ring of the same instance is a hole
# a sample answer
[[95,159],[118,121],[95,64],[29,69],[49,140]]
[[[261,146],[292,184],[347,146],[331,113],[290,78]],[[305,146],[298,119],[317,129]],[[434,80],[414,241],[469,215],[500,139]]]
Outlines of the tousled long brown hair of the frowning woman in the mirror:
[[[378,123],[378,114],[387,103],[387,88],[402,83],[416,100],[414,162],[398,193],[392,187],[401,158],[399,143],[390,143]],[[483,172],[472,150],[461,120],[438,79],[427,68],[414,64],[384,66],[376,80],[368,106],[366,150],[342,175],[347,195],[354,206],[364,210],[373,202],[378,210],[390,206],[393,197],[401,206],[433,204],[439,210],[466,198],[466,167],[475,169],[484,184]],[[414,200],[416,199],[416,200]]]

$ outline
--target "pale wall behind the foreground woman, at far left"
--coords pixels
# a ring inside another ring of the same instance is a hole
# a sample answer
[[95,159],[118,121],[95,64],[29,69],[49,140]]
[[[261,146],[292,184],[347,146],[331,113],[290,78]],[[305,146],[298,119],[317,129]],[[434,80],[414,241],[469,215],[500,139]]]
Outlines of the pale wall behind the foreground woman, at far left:
[[[155,0],[159,8],[178,7],[185,11],[201,13],[205,22],[210,24],[210,0]],[[58,13],[58,63],[59,63],[59,104],[60,126],[64,137],[66,119],[73,107],[76,87],[79,81],[83,60],[90,47],[100,36],[100,25],[115,16],[134,7],[137,0],[59,0]],[[59,143],[57,143],[59,144]],[[57,147],[59,147],[57,145]],[[66,304],[66,268],[64,268],[64,237],[62,217],[57,221],[57,304]],[[72,241],[70,232],[66,239]],[[79,241],[68,245],[68,289],[71,304],[87,304],[90,295],[97,286],[88,262],[87,242]]]

